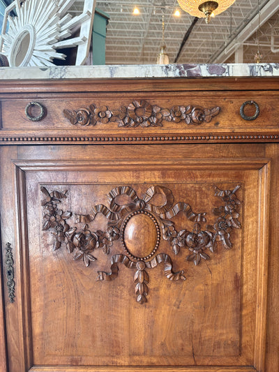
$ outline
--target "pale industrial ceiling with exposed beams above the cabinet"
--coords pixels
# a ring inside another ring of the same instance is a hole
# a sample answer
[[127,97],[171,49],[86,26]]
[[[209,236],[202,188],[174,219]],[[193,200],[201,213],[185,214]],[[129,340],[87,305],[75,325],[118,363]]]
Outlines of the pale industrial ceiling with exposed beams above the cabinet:
[[[258,1],[259,8],[263,8],[260,17]],[[82,3],[78,0],[75,10],[82,7]],[[140,9],[140,15],[132,14],[135,5]],[[174,10],[179,8],[176,0],[97,0],[96,6],[110,15],[106,64],[155,64],[162,38],[163,13],[167,53],[169,62],[173,63],[194,20],[183,10],[181,17],[174,17]],[[212,18],[209,24],[204,19],[197,21],[177,63],[234,62],[234,49],[243,42],[243,62],[253,63],[257,52],[255,30],[259,22],[263,23],[258,33],[262,62],[279,62],[279,52],[271,52],[270,47],[273,30],[279,50],[279,0],[236,0],[231,8]]]

